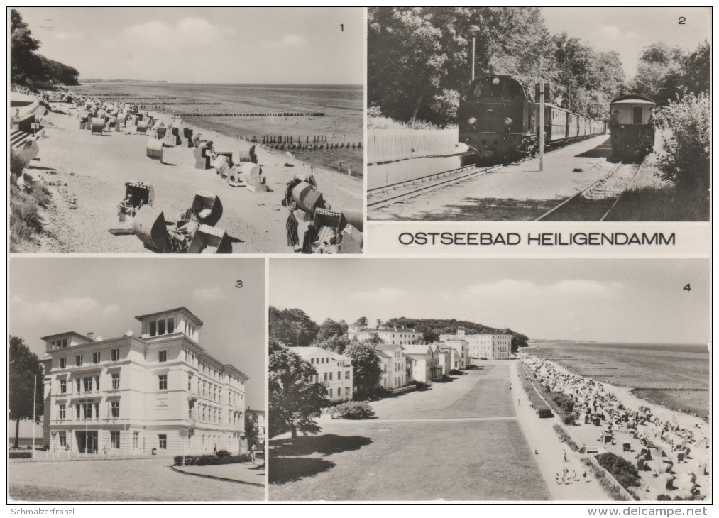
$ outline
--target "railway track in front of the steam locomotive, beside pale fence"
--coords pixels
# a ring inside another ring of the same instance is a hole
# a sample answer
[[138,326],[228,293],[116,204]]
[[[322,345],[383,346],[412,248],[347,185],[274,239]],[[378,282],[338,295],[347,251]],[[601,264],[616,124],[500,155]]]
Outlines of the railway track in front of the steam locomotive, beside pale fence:
[[383,208],[400,201],[414,198],[415,196],[429,193],[432,190],[449,187],[455,183],[467,180],[467,178],[482,175],[485,172],[495,170],[498,167],[502,167],[501,164],[493,165],[491,167],[480,168],[475,165],[467,165],[464,167],[457,167],[457,169],[451,169],[442,172],[432,173],[431,175],[424,175],[412,180],[405,180],[403,182],[390,183],[383,185],[383,187],[377,187],[367,190],[367,208]]

